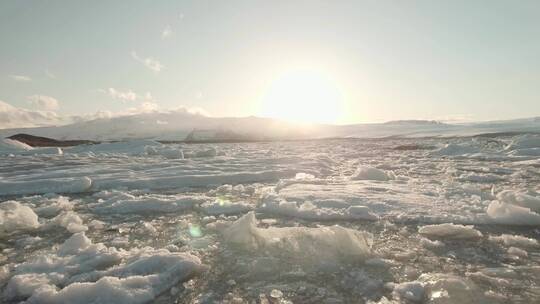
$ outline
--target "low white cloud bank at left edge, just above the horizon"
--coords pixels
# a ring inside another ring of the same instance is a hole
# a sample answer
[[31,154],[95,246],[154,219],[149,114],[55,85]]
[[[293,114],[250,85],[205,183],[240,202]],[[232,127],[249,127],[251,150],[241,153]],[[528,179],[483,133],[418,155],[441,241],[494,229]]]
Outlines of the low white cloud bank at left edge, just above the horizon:
[[50,126],[67,123],[52,111],[32,111],[0,100],[0,129]]

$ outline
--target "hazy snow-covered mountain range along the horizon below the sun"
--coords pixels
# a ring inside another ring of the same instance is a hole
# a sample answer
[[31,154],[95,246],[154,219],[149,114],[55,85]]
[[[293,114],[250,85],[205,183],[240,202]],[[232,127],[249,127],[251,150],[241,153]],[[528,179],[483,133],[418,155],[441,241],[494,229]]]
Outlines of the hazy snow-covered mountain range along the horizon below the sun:
[[98,118],[64,126],[0,130],[0,136],[18,133],[59,140],[279,140],[316,138],[380,138],[470,136],[498,132],[540,132],[540,118],[448,124],[431,120],[327,125],[297,124],[261,117],[208,117],[186,111],[152,112]]

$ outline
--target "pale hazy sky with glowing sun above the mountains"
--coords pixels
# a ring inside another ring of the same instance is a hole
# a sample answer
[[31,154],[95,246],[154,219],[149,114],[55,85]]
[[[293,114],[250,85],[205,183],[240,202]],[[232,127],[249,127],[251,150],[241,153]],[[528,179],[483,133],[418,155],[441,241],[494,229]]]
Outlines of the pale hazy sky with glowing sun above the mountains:
[[536,0],[1,1],[0,120],[538,116],[539,33]]

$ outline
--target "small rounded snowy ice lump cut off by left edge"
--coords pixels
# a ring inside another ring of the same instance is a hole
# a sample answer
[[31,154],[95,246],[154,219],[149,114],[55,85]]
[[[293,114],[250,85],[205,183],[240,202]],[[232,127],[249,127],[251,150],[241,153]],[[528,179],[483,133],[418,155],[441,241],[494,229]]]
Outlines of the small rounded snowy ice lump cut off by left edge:
[[17,201],[0,203],[0,236],[17,230],[31,230],[39,227],[34,211]]

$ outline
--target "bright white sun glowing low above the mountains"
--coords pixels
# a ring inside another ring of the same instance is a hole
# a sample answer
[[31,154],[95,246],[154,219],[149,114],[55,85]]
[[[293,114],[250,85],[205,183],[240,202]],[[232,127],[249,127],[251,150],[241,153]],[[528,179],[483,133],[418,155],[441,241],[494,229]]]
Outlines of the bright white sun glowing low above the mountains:
[[342,112],[338,86],[322,73],[287,72],[274,80],[261,99],[260,114],[299,123],[336,123]]

